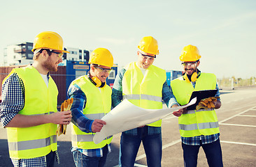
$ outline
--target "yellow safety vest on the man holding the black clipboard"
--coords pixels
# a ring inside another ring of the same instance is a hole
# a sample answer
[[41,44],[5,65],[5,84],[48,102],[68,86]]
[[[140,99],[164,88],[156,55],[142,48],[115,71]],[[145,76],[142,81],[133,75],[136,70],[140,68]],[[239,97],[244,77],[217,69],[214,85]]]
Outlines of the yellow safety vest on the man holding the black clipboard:
[[[171,81],[173,95],[180,105],[189,102],[190,96],[196,90],[213,90],[216,88],[215,74],[201,73],[195,88],[179,77]],[[192,137],[200,135],[218,134],[220,132],[218,118],[214,109],[189,110],[178,118],[180,136]]]

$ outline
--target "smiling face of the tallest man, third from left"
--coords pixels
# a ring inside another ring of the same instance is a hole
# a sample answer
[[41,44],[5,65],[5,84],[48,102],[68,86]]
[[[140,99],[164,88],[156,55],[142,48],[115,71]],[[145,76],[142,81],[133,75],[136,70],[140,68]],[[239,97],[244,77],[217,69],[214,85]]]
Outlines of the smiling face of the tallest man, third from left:
[[145,52],[137,51],[138,54],[138,61],[137,65],[138,67],[141,67],[143,69],[148,69],[152,63],[155,61],[155,55],[154,54],[148,54]]

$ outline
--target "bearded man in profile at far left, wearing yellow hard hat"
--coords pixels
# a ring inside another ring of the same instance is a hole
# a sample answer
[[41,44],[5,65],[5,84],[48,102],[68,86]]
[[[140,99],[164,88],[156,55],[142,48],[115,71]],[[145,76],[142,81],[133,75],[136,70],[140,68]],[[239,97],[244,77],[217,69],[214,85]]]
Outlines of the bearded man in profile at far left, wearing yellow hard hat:
[[57,124],[71,122],[71,111],[57,112],[58,90],[50,77],[62,62],[62,37],[51,31],[36,35],[34,63],[13,69],[3,80],[1,123],[8,134],[14,166],[54,166]]

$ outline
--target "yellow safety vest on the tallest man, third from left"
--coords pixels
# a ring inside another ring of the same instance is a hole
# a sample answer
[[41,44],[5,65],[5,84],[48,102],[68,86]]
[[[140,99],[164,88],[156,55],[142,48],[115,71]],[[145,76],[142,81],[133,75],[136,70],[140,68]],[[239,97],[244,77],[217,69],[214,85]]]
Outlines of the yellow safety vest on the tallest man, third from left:
[[[162,109],[162,88],[166,81],[166,72],[155,65],[150,65],[145,76],[136,62],[125,67],[122,79],[122,99],[143,109]],[[149,124],[151,127],[161,127],[162,120]]]

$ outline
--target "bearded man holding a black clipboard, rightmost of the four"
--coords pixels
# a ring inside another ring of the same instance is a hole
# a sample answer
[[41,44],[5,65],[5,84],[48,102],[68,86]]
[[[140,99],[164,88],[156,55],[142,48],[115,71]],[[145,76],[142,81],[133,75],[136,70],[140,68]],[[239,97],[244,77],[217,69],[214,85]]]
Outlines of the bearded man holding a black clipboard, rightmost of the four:
[[220,147],[220,130],[215,109],[221,106],[220,93],[215,74],[201,72],[199,50],[193,45],[183,48],[180,61],[185,73],[171,81],[173,95],[180,105],[189,102],[193,91],[217,89],[215,97],[201,100],[196,109],[183,111],[178,118],[183,148],[183,159],[186,167],[197,166],[197,155],[202,147],[209,166],[223,166]]

